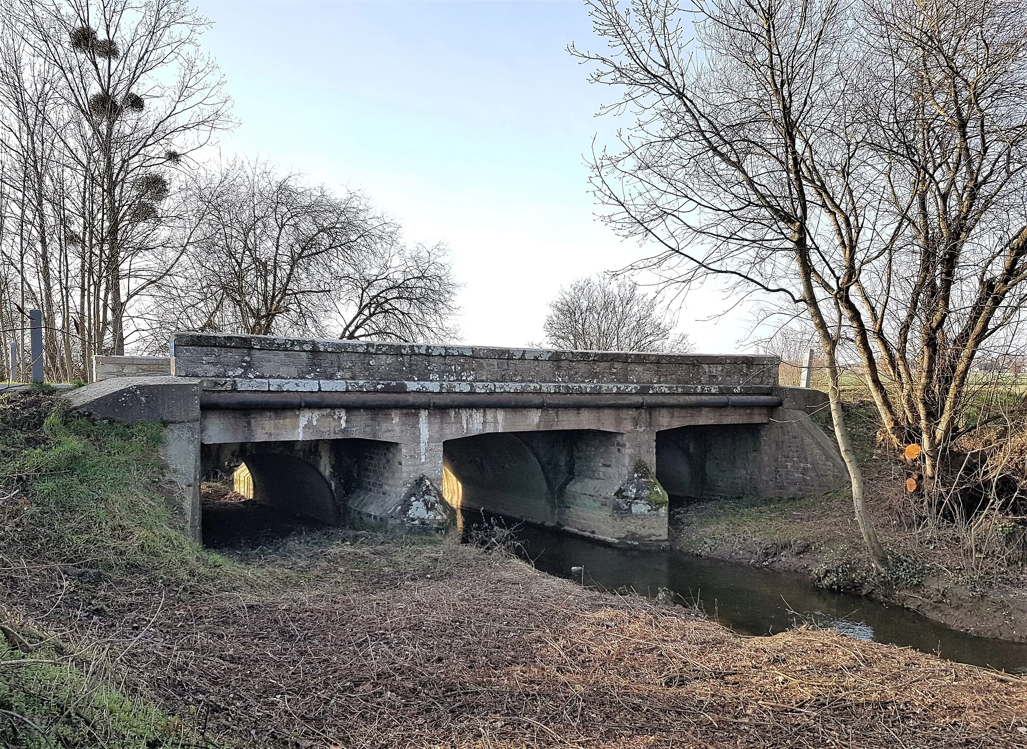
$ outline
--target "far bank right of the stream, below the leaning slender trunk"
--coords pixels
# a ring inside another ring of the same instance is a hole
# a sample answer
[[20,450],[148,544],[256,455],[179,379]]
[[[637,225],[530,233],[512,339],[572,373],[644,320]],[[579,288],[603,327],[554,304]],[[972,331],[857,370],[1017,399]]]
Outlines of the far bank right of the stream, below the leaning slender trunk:
[[[1027,642],[1027,567],[972,554],[955,528],[910,528],[899,508],[906,466],[877,448],[866,409],[849,410],[867,504],[893,573],[874,573],[845,491],[777,500],[672,502],[672,546],[686,553],[801,572],[817,585],[902,605],[953,629]],[[861,416],[863,419],[861,420]]]

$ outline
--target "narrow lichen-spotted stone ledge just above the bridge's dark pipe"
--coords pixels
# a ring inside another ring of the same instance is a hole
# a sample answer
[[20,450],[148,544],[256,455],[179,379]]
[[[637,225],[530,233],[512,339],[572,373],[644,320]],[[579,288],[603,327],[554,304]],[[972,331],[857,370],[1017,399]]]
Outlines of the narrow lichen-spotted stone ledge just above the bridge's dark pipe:
[[220,378],[200,380],[204,390],[251,392],[546,392],[571,395],[770,395],[770,385],[664,385],[579,382],[438,382]]

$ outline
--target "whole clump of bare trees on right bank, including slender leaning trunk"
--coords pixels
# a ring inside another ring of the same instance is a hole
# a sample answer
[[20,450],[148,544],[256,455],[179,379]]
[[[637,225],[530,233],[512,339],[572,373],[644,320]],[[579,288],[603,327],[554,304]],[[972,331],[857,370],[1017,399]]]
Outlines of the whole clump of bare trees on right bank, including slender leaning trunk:
[[[893,444],[925,473],[960,434],[975,357],[1009,339],[1027,280],[1027,34],[1020,0],[595,0],[582,54],[635,123],[596,159],[621,232],[678,280],[733,279],[800,309],[838,391],[857,357]],[[694,24],[697,43],[687,31]],[[969,426],[968,428],[974,428]]]

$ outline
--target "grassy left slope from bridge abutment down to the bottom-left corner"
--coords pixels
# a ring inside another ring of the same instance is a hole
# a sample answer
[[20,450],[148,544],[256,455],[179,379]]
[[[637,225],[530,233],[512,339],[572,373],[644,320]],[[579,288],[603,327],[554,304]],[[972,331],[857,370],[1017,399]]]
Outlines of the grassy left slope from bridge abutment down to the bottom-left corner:
[[[44,390],[0,397],[0,743],[195,746],[88,623],[125,589],[210,585],[218,560],[166,501],[157,424],[71,415]],[[85,626],[83,626],[85,625]]]

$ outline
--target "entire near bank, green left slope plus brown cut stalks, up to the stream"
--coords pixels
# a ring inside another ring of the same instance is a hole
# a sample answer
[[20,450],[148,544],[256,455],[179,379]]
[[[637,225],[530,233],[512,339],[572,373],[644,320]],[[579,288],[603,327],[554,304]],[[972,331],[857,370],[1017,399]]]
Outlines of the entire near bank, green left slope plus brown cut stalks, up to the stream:
[[9,746],[1027,746],[1022,679],[740,637],[501,550],[334,530],[214,557],[172,536],[155,430],[31,403],[2,406],[5,444],[37,451],[4,484]]

